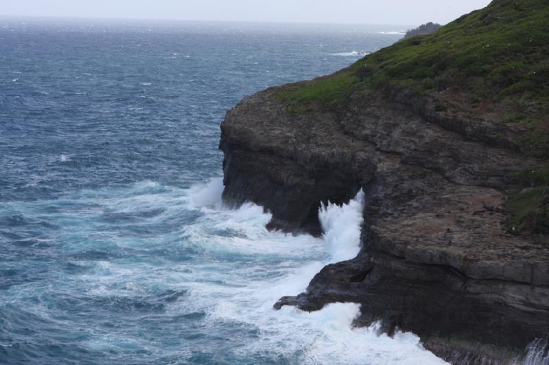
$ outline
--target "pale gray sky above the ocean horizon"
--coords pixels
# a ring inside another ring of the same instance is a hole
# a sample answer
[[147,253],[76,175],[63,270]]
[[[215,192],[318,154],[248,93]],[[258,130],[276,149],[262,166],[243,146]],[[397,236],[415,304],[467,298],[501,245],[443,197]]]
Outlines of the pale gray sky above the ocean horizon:
[[413,25],[448,23],[489,0],[0,0],[0,15]]

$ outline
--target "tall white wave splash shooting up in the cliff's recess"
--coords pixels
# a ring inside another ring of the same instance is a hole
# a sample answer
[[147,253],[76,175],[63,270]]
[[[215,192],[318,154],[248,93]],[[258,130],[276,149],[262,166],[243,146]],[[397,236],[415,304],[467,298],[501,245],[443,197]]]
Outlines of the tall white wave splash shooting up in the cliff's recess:
[[323,229],[323,239],[330,255],[330,262],[351,260],[360,251],[360,227],[364,210],[362,189],[348,204],[320,205],[318,219]]

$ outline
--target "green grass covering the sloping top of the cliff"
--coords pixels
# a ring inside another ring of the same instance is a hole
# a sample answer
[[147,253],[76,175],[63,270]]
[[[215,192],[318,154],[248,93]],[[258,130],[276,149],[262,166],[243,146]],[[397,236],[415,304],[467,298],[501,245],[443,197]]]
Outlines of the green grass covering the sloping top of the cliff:
[[514,100],[547,115],[549,1],[492,1],[434,34],[401,40],[334,75],[284,86],[279,95],[296,110],[334,110],[353,90],[397,87],[421,94],[449,86],[477,101]]

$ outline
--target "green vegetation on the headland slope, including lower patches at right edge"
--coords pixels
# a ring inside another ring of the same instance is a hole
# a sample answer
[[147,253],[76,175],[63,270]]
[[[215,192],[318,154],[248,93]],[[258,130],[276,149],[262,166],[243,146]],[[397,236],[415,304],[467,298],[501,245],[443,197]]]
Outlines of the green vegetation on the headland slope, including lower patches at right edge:
[[[449,88],[458,104],[439,93]],[[337,112],[351,95],[395,89],[431,97],[435,112],[494,112],[502,124],[530,131],[518,141],[525,156],[549,161],[549,1],[493,0],[433,34],[401,40],[334,75],[282,86],[277,95],[302,114]],[[536,182],[518,179],[530,190],[509,201],[509,222],[517,231],[549,233],[548,168],[526,175]]]

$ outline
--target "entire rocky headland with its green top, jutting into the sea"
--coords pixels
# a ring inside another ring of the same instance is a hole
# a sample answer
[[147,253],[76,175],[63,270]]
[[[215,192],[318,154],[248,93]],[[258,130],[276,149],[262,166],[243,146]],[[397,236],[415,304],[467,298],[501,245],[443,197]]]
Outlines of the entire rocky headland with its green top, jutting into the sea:
[[320,202],[366,196],[358,256],[275,307],[360,303],[357,325],[456,364],[512,362],[549,332],[548,16],[494,0],[227,113],[226,202],[320,234]]

